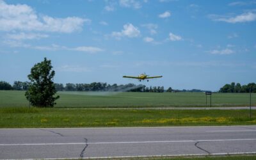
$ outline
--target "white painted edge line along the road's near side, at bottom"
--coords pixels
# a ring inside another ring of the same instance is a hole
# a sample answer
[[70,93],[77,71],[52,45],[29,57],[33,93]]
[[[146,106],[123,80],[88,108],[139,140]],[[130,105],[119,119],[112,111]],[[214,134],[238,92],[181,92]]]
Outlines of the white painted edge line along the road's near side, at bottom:
[[[214,153],[214,154],[166,154],[156,156],[113,156],[113,157],[67,157],[67,158],[44,158],[44,160],[50,159],[114,159],[114,158],[147,158],[147,157],[187,157],[187,156],[227,156],[227,155],[244,155],[244,154],[256,154],[256,152],[231,152],[231,153]],[[22,159],[23,160],[23,159]],[[25,159],[24,159],[25,160]],[[33,159],[26,159],[33,160]]]

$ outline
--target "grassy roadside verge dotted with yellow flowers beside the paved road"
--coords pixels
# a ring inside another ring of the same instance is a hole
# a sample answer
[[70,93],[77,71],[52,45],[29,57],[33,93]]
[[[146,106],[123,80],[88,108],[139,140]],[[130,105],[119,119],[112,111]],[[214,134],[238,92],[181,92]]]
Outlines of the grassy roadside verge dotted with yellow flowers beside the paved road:
[[0,127],[256,125],[256,111],[0,108]]

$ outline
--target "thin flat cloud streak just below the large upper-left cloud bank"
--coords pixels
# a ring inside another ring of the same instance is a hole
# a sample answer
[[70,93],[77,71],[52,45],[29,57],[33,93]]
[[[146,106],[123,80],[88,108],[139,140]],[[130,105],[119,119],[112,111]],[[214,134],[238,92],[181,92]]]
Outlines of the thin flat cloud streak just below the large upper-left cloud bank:
[[39,33],[24,33],[21,32],[19,34],[8,34],[6,38],[12,40],[33,40],[40,38],[47,38],[49,35],[39,34]]

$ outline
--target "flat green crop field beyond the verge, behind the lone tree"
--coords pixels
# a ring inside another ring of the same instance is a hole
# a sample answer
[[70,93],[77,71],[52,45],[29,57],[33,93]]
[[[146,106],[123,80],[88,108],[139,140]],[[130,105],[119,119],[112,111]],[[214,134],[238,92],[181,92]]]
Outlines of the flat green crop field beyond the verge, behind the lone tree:
[[[56,108],[204,107],[204,93],[58,92]],[[208,102],[209,102],[208,97]],[[256,106],[256,93],[252,93]],[[23,91],[0,91],[0,107],[28,106]],[[249,93],[212,93],[212,106],[249,106]]]

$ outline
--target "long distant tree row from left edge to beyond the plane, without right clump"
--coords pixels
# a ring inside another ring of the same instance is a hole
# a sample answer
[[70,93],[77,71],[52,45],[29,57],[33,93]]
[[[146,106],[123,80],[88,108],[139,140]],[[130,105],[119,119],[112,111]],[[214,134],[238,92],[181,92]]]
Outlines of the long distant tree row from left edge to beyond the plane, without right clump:
[[[28,90],[28,81],[14,81],[13,85],[5,81],[0,81],[0,90]],[[145,85],[136,84],[108,84],[108,83],[54,83],[57,91],[77,91],[77,92],[164,92],[163,86],[150,86],[149,88]],[[172,92],[172,88],[168,88],[167,92]]]

